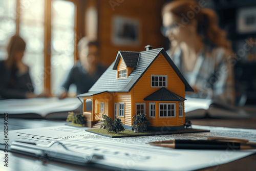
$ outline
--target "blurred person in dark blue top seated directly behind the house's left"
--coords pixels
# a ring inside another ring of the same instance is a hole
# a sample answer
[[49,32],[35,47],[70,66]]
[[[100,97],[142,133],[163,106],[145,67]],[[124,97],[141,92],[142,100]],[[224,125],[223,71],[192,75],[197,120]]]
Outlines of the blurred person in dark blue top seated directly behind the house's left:
[[[83,37],[79,40],[77,46],[79,60],[62,84],[60,99],[87,93],[106,70],[106,67],[100,63],[98,41],[90,41]],[[68,93],[71,84],[75,84],[76,93]]]

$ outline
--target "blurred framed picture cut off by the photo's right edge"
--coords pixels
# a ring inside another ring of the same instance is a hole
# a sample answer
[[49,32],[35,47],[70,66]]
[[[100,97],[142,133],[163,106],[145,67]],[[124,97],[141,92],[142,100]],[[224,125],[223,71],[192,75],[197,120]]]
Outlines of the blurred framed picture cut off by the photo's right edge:
[[237,13],[237,32],[256,33],[256,7],[240,8]]

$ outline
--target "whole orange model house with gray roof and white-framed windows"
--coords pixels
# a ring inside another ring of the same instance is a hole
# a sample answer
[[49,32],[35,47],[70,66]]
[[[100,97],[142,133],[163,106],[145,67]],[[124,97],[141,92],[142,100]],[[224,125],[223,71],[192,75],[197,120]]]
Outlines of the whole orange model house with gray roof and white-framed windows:
[[[163,48],[146,46],[143,52],[118,51],[115,61],[83,99],[88,127],[96,127],[105,114],[120,118],[132,130],[133,116],[146,114],[150,130],[181,130],[185,124],[185,92],[193,92]],[[92,106],[87,106],[90,100]],[[87,110],[88,109],[88,110]]]

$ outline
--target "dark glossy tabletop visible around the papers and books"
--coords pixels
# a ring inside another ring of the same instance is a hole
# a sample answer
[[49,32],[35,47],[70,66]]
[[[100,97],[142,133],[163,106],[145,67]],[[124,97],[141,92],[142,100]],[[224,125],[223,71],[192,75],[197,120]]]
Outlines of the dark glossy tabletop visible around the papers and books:
[[[251,115],[250,119],[193,119],[194,125],[222,126],[244,129],[256,129],[256,107],[246,107],[245,110]],[[2,118],[3,119],[3,118]],[[1,119],[0,119],[1,120]],[[46,126],[64,125],[65,121],[53,121],[43,119],[11,119],[8,120],[9,130],[28,129]],[[1,125],[1,123],[0,123]],[[3,152],[0,152],[3,153]],[[9,168],[12,170],[111,170],[110,168],[90,164],[87,167],[66,164],[55,161],[39,160],[37,158],[9,153]],[[115,169],[117,170],[117,169]],[[227,164],[199,170],[256,170],[256,154],[236,160]]]

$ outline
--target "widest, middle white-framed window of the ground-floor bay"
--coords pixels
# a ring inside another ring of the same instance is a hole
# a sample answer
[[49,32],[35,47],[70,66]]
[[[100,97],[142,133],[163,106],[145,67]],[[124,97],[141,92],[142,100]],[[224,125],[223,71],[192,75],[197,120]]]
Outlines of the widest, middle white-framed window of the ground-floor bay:
[[159,118],[174,118],[175,103],[159,103]]

